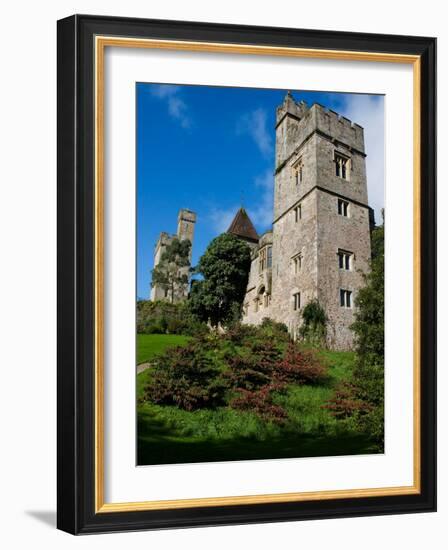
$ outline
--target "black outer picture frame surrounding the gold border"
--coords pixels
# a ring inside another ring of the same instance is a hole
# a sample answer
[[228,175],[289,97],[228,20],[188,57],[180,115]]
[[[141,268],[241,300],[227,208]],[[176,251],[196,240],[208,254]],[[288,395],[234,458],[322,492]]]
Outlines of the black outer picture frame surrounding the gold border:
[[[97,35],[415,55],[421,70],[419,494],[95,510],[94,39]],[[436,39],[74,15],[58,22],[57,525],[73,534],[436,509]]]

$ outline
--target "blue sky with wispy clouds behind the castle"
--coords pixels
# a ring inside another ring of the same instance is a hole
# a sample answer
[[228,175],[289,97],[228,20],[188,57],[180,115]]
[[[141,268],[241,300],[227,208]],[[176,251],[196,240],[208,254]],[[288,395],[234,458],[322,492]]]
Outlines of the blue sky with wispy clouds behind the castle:
[[[244,205],[259,233],[272,222],[275,109],[285,90],[136,85],[137,296],[148,298],[154,245],[197,213],[195,265]],[[383,96],[292,91],[364,126],[369,203],[384,206]]]

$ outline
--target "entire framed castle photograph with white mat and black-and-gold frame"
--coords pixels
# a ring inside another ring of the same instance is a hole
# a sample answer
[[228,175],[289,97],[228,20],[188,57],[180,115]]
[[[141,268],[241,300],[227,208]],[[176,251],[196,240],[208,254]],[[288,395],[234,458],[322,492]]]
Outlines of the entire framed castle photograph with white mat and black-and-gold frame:
[[434,511],[433,38],[58,22],[58,527]]

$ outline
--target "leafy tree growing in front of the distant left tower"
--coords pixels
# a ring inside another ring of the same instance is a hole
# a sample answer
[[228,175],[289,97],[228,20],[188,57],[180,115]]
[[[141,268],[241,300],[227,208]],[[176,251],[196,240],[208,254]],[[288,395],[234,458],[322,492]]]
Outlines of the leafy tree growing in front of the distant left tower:
[[162,253],[152,270],[151,285],[160,285],[171,303],[186,294],[190,273],[191,242],[175,238]]

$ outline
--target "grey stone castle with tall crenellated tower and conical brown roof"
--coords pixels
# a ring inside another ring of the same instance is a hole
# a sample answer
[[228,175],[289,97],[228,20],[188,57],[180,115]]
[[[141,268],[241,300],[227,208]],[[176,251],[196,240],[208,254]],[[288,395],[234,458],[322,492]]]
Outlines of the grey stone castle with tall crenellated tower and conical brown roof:
[[[317,299],[328,319],[328,345],[350,349],[373,224],[364,130],[319,104],[297,103],[288,92],[277,108],[275,132],[272,229],[259,236],[243,208],[228,229],[252,249],[243,323],[269,317],[296,337],[303,307]],[[160,297],[155,287],[153,294]]]

